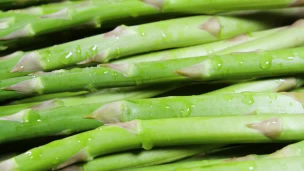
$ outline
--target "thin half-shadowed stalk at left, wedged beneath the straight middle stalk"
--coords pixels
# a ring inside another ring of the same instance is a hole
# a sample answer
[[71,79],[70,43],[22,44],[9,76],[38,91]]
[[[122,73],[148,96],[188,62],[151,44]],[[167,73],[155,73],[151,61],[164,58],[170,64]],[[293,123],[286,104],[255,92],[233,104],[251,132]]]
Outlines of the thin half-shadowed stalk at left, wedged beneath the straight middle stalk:
[[[87,103],[108,102],[119,99],[136,99],[152,97],[171,89],[176,86],[153,86],[153,87],[120,87],[106,88],[93,93],[80,94],[72,97],[54,98],[43,102],[30,102],[15,105],[0,106],[0,115],[16,113],[25,108],[34,110],[45,110],[61,106],[72,106]],[[78,93],[78,92],[77,92]],[[79,92],[81,93],[81,92]]]

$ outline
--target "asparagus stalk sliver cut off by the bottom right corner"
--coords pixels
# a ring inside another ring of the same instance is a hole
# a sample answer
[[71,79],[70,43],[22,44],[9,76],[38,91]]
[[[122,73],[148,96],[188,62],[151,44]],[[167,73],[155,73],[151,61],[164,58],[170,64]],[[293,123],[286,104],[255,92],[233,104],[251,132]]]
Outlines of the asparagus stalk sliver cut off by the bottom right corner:
[[177,168],[175,170],[181,171],[196,171],[196,170],[250,170],[254,169],[257,171],[269,170],[302,170],[304,156],[294,156],[294,157],[283,157],[275,159],[257,159],[257,160],[247,160],[239,162],[226,162],[220,164],[213,164],[209,166],[193,167],[193,168]]

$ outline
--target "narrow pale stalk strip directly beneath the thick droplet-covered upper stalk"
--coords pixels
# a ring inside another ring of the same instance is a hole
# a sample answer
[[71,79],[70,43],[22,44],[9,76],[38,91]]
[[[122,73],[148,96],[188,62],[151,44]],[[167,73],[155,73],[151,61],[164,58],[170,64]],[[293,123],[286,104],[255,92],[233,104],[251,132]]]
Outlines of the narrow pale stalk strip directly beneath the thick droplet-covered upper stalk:
[[[145,62],[145,61],[156,61],[163,59],[205,56],[217,51],[221,51],[226,48],[230,49],[237,44],[242,44],[247,41],[252,41],[254,39],[267,36],[269,34],[275,33],[280,29],[282,29],[282,27],[251,32],[247,34],[240,34],[230,39],[215,41],[211,43],[205,43],[205,44],[194,45],[189,47],[174,48],[168,50],[161,50],[161,51],[150,52],[146,54],[139,54],[131,57],[114,60],[111,63]],[[241,38],[237,38],[237,37],[241,37]],[[267,48],[267,46],[264,46],[264,48]]]

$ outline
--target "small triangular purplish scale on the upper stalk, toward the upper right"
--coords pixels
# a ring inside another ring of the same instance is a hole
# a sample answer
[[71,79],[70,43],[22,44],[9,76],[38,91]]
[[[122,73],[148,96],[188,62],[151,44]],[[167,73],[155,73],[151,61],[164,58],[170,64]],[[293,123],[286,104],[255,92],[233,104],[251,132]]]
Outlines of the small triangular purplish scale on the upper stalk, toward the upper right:
[[200,29],[203,29],[214,36],[219,36],[220,24],[215,16],[209,18],[206,22],[200,25]]

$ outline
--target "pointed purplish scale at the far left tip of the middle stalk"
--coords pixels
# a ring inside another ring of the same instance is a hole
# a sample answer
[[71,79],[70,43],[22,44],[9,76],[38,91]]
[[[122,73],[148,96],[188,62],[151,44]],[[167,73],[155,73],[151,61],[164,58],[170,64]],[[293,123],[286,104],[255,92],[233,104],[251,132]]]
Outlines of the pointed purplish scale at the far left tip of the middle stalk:
[[2,87],[2,90],[12,90],[24,94],[34,94],[39,88],[43,87],[40,79],[33,78],[18,82],[16,84]]

